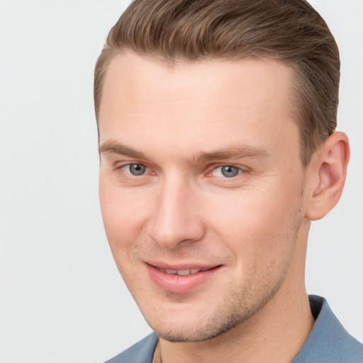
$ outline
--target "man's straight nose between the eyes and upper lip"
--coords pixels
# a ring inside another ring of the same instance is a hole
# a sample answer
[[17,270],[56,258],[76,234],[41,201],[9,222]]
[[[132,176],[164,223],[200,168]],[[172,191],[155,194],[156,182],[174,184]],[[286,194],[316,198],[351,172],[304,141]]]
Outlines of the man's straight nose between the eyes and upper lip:
[[195,189],[177,178],[160,184],[150,225],[150,237],[160,247],[172,249],[203,238],[205,228]]

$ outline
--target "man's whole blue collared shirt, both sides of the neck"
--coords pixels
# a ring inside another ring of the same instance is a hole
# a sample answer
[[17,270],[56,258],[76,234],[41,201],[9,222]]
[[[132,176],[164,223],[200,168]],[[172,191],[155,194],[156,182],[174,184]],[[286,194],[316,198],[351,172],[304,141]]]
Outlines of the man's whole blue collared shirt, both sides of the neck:
[[[309,301],[315,325],[291,363],[363,363],[363,345],[347,333],[325,298],[311,295]],[[105,363],[152,363],[157,340],[152,333]]]

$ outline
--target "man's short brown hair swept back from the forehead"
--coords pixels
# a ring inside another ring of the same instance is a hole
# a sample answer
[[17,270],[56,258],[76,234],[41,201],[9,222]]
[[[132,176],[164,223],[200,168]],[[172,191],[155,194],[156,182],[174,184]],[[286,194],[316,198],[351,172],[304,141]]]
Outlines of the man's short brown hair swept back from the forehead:
[[269,57],[294,73],[301,160],[336,127],[340,60],[321,16],[305,0],[135,0],[111,29],[96,63],[99,119],[109,62],[133,51],[165,62]]

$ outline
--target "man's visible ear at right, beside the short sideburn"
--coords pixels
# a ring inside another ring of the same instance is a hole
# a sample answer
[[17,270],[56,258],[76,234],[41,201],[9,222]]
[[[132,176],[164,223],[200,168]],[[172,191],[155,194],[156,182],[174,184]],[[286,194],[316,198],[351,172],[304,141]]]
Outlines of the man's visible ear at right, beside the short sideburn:
[[349,157],[347,135],[339,131],[315,152],[308,166],[306,218],[318,220],[335,207],[342,195]]

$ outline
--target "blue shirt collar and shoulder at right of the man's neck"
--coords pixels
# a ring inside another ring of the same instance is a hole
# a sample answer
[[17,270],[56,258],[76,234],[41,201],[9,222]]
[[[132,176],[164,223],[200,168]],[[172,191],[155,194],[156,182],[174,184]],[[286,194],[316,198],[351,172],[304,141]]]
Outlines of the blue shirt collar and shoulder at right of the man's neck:
[[293,363],[361,363],[363,345],[347,333],[325,298],[310,296],[314,328]]

